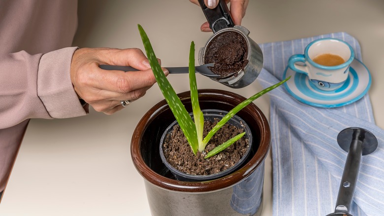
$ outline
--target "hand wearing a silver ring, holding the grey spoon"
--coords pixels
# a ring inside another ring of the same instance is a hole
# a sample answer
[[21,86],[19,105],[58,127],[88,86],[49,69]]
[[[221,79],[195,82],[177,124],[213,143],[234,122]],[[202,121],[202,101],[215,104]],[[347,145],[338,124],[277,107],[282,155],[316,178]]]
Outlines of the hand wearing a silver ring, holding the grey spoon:
[[[139,71],[107,71],[99,65],[130,66]],[[143,97],[156,82],[148,59],[137,48],[78,49],[72,57],[70,77],[79,98],[105,114],[122,109],[121,101]]]

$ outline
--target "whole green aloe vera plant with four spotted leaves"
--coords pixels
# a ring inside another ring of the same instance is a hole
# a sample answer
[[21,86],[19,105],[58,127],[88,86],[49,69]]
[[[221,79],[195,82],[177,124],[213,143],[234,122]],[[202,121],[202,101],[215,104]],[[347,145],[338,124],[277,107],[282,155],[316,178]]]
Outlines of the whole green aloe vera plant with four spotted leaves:
[[[265,93],[271,91],[274,88],[277,88],[284,82],[286,82],[290,77],[287,79],[272,85],[255,95],[251,96],[247,100],[243,101],[239,105],[237,105],[235,108],[230,110],[213,128],[210,132],[208,132],[207,136],[203,138],[203,128],[204,128],[204,116],[202,111],[200,110],[199,102],[198,102],[198,94],[197,94],[197,83],[196,83],[196,75],[195,75],[195,68],[194,68],[194,43],[191,42],[191,48],[190,48],[190,56],[189,56],[189,79],[190,79],[190,89],[191,89],[191,102],[192,102],[192,112],[193,112],[193,119],[188,113],[187,109],[184,107],[182,102],[180,101],[179,97],[177,96],[175,90],[173,89],[172,85],[169,83],[168,79],[164,75],[164,73],[161,70],[160,64],[157,60],[157,57],[155,55],[155,52],[152,48],[151,42],[145,33],[144,29],[138,25],[138,29],[140,32],[141,39],[144,44],[145,51],[147,53],[147,57],[149,60],[149,63],[151,65],[151,69],[155,75],[156,81],[159,85],[159,88],[161,90],[161,93],[163,94],[166,102],[168,103],[170,109],[172,110],[173,115],[175,116],[177,122],[180,125],[181,130],[183,131],[185,137],[187,138],[188,143],[191,145],[192,152],[196,155],[197,151],[204,151],[205,146],[208,144],[210,139],[215,135],[215,133],[224,126],[224,124],[233,117],[238,111],[240,111],[242,108],[246,107],[247,105],[251,104],[254,100],[259,98],[260,96],[264,95]],[[221,144],[217,146],[216,148],[212,149],[210,152],[207,153],[207,155],[204,157],[209,158],[220,151],[224,150],[231,144],[235,143],[237,140],[242,138],[245,135],[244,133],[241,133],[230,140],[226,141],[224,144]]]

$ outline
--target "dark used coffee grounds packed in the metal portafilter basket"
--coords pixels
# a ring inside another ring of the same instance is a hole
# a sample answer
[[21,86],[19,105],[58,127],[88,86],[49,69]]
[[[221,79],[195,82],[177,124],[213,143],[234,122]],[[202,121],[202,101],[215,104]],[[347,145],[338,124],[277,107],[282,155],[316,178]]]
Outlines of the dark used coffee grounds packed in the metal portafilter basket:
[[248,45],[243,36],[236,32],[224,32],[208,44],[204,64],[215,63],[210,70],[221,77],[229,76],[248,64]]

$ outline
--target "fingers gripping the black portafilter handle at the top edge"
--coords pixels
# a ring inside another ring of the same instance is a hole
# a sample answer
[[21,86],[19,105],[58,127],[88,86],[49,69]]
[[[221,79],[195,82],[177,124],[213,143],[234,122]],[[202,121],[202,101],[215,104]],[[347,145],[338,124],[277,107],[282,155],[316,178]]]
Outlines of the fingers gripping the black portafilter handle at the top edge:
[[[197,0],[190,1],[200,6]],[[241,20],[245,16],[245,11],[247,9],[249,0],[225,0],[225,2],[231,2],[229,11],[231,13],[234,24],[241,25]],[[204,0],[204,3],[208,8],[215,8],[219,4],[219,0]],[[209,28],[208,22],[203,23],[200,27],[200,30],[202,32],[212,32],[212,29]]]

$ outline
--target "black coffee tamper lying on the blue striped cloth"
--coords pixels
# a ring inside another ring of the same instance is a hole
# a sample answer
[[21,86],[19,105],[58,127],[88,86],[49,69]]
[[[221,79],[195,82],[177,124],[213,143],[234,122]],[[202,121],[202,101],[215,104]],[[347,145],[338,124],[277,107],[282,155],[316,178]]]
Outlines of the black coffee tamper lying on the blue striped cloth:
[[337,135],[337,143],[348,152],[339,187],[335,212],[327,216],[352,216],[353,192],[359,172],[361,155],[374,152],[378,146],[375,135],[362,128],[346,128]]

